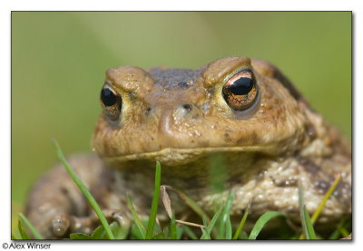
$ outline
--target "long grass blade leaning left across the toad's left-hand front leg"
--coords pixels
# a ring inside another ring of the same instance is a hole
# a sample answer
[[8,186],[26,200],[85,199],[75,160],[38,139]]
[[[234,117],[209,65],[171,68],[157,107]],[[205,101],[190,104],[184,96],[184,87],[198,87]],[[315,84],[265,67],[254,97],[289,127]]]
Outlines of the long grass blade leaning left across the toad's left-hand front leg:
[[63,154],[61,148],[59,147],[58,142],[54,139],[53,139],[53,142],[54,142],[54,146],[55,146],[55,151],[58,155],[58,159],[62,162],[62,164],[64,165],[64,168],[67,170],[67,172],[72,177],[72,179],[74,179],[74,183],[78,186],[78,188],[81,189],[85,198],[87,198],[87,200],[90,202],[93,210],[99,217],[101,224],[103,225],[104,230],[106,231],[107,236],[110,239],[114,239],[113,232],[111,231],[111,228],[108,225],[108,222],[107,222],[106,218],[104,217],[103,212],[101,211],[101,208],[98,206],[97,202],[93,198],[90,191],[84,186],[82,180],[78,178],[78,176],[74,173],[74,170],[68,164],[67,160],[65,160],[64,154]]

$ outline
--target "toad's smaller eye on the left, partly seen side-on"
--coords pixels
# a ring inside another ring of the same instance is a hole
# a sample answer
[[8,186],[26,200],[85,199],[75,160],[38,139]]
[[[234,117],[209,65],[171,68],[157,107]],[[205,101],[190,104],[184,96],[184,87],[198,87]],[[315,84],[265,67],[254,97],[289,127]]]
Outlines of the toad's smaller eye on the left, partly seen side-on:
[[101,91],[101,105],[106,116],[110,120],[115,121],[120,116],[123,100],[119,92],[113,90],[108,84],[104,84]]

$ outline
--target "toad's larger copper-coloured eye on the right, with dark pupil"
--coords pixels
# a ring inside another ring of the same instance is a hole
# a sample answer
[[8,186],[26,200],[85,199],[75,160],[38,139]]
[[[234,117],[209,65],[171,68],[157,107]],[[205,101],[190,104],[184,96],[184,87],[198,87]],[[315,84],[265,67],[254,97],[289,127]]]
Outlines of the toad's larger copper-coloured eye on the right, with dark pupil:
[[233,110],[243,111],[256,100],[258,87],[250,70],[234,74],[223,86],[223,98]]

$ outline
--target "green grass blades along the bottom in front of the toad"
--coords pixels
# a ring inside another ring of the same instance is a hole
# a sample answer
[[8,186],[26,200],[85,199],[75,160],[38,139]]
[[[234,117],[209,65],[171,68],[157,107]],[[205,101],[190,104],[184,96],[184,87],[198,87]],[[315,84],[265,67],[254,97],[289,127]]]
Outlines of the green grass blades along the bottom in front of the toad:
[[[232,190],[229,194],[228,198],[221,204],[220,208],[218,208],[214,215],[210,217],[201,209],[201,207],[193,201],[186,193],[182,190],[172,188],[170,186],[161,186],[161,173],[162,168],[159,162],[156,163],[155,169],[155,189],[154,195],[152,199],[152,208],[150,212],[149,220],[144,221],[141,220],[137,211],[133,207],[132,198],[127,196],[127,201],[129,208],[132,212],[132,227],[131,231],[129,229],[125,229],[119,225],[118,222],[113,222],[109,225],[103,216],[103,213],[92,197],[91,193],[87,188],[84,187],[83,182],[75,175],[74,170],[69,166],[67,161],[64,159],[64,155],[62,150],[59,148],[57,142],[54,140],[55,150],[58,154],[59,159],[64,164],[64,168],[67,169],[74,182],[77,186],[82,190],[84,196],[88,199],[93,209],[97,213],[100,218],[101,226],[97,227],[91,236],[83,234],[83,233],[73,233],[70,235],[71,239],[250,239],[255,240],[259,237],[260,232],[263,228],[270,222],[271,219],[275,217],[282,217],[286,220],[289,220],[289,217],[285,214],[276,211],[268,211],[265,212],[254,224],[250,233],[248,234],[243,230],[244,224],[249,215],[249,208],[246,208],[243,216],[240,219],[240,225],[237,229],[234,229],[231,225],[231,205],[233,202],[234,191]],[[334,181],[333,185],[327,192],[325,198],[319,205],[317,212],[310,218],[309,213],[304,204],[303,198],[303,188],[301,184],[299,185],[299,209],[300,209],[300,218],[301,218],[301,227],[298,229],[289,228],[287,232],[281,231],[282,239],[318,239],[320,238],[315,234],[315,230],[313,224],[316,222],[319,217],[319,213],[321,209],[324,207],[325,202],[328,200],[329,196],[333,192],[334,188],[336,188],[338,184],[338,180],[340,176],[338,175],[337,179]],[[166,188],[178,194],[186,205],[188,205],[197,215],[201,216],[203,225],[185,222],[182,220],[178,220],[175,218],[174,211],[172,210],[172,205],[166,192]],[[157,209],[159,204],[159,195],[162,194],[162,202],[166,211],[168,212],[169,217],[171,218],[170,225],[165,225],[164,227],[159,227],[157,224]],[[19,214],[20,220],[18,223],[17,232],[12,235],[12,239],[30,239],[30,237],[25,232],[25,226],[28,227],[30,233],[34,236],[35,239],[43,239],[43,237],[35,230],[35,228],[31,225],[31,223],[26,219],[23,214]],[[190,227],[188,227],[190,226]],[[194,228],[191,230],[191,227]],[[342,218],[337,229],[331,233],[329,239],[338,239],[339,237],[347,237],[349,234],[350,221],[348,218]],[[196,230],[196,231],[195,231]],[[200,233],[201,236],[198,237]],[[299,237],[300,235],[300,237]]]

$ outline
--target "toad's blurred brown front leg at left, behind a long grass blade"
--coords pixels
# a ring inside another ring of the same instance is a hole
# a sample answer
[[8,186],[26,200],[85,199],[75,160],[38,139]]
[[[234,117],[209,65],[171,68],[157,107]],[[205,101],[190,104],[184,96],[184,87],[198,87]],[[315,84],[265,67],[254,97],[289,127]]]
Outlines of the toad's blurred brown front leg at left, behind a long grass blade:
[[[87,188],[103,188],[100,159],[78,155],[67,160]],[[106,209],[103,213],[110,220],[127,224],[120,210]],[[69,232],[90,234],[100,224],[62,164],[57,164],[35,185],[28,198],[25,215],[44,238],[65,237]]]

